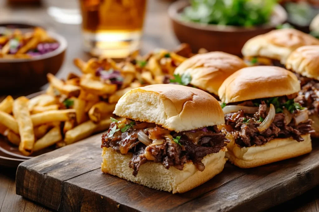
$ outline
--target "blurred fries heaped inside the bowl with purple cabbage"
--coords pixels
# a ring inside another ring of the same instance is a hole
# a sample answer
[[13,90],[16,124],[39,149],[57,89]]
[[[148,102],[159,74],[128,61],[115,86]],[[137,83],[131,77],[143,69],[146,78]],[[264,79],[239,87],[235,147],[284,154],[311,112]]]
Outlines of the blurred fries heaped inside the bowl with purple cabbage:
[[0,33],[0,58],[32,58],[29,51],[38,51],[38,44],[56,43],[56,40],[40,27],[26,33],[19,29],[7,28],[1,28],[1,31],[3,32]]

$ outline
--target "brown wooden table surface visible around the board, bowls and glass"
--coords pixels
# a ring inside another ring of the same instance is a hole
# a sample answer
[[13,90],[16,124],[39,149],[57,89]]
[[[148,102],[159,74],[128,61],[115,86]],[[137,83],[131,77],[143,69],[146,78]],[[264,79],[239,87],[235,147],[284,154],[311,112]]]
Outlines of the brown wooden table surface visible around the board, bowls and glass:
[[[37,23],[60,33],[67,39],[68,49],[66,59],[63,67],[57,74],[59,78],[65,78],[69,72],[79,72],[73,65],[73,58],[78,57],[84,60],[90,58],[82,49],[80,25],[57,23],[47,13],[48,3],[55,2],[58,4],[63,1],[73,0],[46,0],[43,1],[41,6],[28,7],[8,6],[5,0],[0,0],[0,22],[14,20]],[[171,1],[168,0],[149,0],[144,36],[141,44],[142,53],[147,53],[159,47],[172,49],[178,45],[178,41],[171,30],[169,18],[167,17],[167,8],[170,2]],[[23,91],[15,95],[28,95],[38,90],[39,88],[30,88],[29,91]],[[0,99],[2,98],[3,96],[0,96]],[[15,168],[0,167],[0,212],[50,211],[16,195],[15,173]],[[256,204],[258,204],[258,202],[256,202]],[[319,210],[319,186],[269,211],[274,210],[317,212]]]

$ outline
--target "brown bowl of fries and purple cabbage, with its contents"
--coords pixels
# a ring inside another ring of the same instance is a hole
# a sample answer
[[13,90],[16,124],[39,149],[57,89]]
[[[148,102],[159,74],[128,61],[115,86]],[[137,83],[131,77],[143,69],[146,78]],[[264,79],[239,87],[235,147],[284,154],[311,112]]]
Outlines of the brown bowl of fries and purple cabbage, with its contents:
[[66,39],[30,24],[0,23],[0,90],[46,84],[64,61]]

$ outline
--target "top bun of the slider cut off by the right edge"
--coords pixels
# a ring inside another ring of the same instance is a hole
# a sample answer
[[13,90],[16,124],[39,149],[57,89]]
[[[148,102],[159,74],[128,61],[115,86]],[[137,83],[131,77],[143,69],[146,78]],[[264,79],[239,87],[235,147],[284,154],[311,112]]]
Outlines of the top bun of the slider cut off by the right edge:
[[302,46],[293,51],[287,59],[286,68],[319,80],[319,45]]

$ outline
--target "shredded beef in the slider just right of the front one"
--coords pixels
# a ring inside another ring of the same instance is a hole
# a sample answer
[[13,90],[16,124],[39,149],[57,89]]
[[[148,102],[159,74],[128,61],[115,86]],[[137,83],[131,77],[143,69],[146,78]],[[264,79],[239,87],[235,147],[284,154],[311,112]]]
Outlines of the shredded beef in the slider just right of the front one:
[[[284,104],[287,99],[279,97],[276,101],[277,100],[278,102],[276,103],[278,106]],[[225,124],[232,127],[233,130],[231,133],[233,134],[235,143],[240,147],[263,145],[275,138],[292,137],[294,140],[300,142],[304,140],[301,135],[313,132],[313,129],[311,128],[312,121],[308,119],[308,116],[306,120],[303,120],[296,125],[295,118],[300,113],[298,110],[294,110],[293,113],[287,111],[292,117],[289,123],[285,123],[285,114],[282,110],[277,110],[278,113],[275,114],[275,118],[271,125],[264,131],[259,132],[257,127],[261,125],[268,115],[267,104],[265,101],[269,100],[254,100],[254,102],[246,101],[238,105],[256,106],[256,104],[258,105],[258,101],[260,103],[259,109],[255,114],[245,114],[243,110],[239,110],[236,113],[228,113],[225,115]]]

